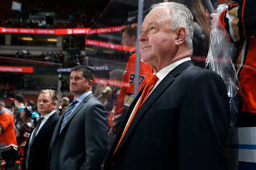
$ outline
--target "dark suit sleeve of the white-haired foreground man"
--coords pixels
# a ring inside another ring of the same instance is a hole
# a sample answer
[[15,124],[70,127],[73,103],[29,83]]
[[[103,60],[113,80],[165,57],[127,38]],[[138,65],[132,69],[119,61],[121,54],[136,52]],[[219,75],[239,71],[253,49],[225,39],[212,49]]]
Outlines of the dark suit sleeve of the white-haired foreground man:
[[224,146],[230,121],[225,84],[199,73],[186,90],[179,123],[179,169],[226,169]]

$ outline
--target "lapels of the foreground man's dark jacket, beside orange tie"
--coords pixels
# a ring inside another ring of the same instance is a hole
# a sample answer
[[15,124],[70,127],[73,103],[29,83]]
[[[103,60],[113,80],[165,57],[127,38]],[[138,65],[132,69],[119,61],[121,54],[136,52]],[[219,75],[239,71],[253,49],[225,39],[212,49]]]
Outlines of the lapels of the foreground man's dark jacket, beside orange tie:
[[[137,111],[136,115],[134,116],[132,123],[130,127],[127,129],[126,134],[124,135],[124,138],[122,142],[120,143],[118,149],[116,152],[118,152],[119,149],[122,148],[122,146],[125,144],[127,139],[130,138],[130,135],[134,132],[134,130],[137,128],[137,125],[141,121],[141,119],[144,117],[144,115],[147,113],[149,108],[154,104],[154,102],[163,94],[163,92],[166,90],[167,87],[169,87],[173,81],[175,80],[175,77],[177,77],[181,72],[183,72],[185,69],[187,69],[189,66],[193,65],[191,61],[184,62],[177,66],[175,69],[173,69],[170,73],[166,75],[166,77],[158,84],[158,86],[155,88],[153,92],[149,95],[149,97],[144,101],[143,105],[140,107],[140,109]],[[142,89],[143,90],[143,89]],[[129,110],[127,111],[125,115],[125,120],[122,122],[122,129],[119,131],[119,133],[123,133],[125,125],[127,121],[129,120],[129,117],[132,113],[132,110],[137,103],[139,97],[141,96],[142,90],[140,91],[140,94],[134,99],[132,102],[132,105],[129,107]],[[118,133],[118,134],[119,134]],[[121,138],[121,135],[118,135],[118,141]]]

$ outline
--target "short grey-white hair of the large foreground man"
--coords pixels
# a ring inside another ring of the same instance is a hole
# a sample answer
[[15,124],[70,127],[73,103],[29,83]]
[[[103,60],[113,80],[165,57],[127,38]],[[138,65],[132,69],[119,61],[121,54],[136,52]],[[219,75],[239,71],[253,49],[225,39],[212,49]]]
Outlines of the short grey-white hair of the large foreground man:
[[188,49],[193,49],[193,15],[190,10],[183,4],[175,2],[163,2],[159,4],[153,4],[150,6],[150,11],[156,7],[166,7],[170,10],[172,16],[170,29],[177,30],[179,27],[183,26],[187,30],[186,43]]

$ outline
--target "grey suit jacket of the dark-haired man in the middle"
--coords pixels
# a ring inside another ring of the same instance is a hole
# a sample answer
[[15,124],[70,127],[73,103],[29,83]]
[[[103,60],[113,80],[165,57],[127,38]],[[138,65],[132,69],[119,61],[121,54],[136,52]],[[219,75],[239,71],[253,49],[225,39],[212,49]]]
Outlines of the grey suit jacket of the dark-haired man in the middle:
[[109,129],[104,106],[93,94],[85,97],[59,134],[63,116],[51,141],[50,169],[100,169],[107,152]]

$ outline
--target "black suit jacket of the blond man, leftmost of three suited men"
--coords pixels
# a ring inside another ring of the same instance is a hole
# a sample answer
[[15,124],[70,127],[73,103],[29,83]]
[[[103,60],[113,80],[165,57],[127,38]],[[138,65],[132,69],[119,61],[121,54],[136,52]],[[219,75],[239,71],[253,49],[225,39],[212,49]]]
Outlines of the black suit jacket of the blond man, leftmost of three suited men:
[[[60,116],[57,113],[51,115],[39,132],[36,135],[34,142],[30,147],[29,152],[29,162],[28,169],[47,169],[47,156],[49,152],[49,147],[52,139],[52,133],[55,128],[56,123],[58,122]],[[28,139],[29,141],[30,139]],[[28,150],[29,142],[26,143],[24,150],[24,160],[22,163],[22,169],[26,169],[26,156]]]

